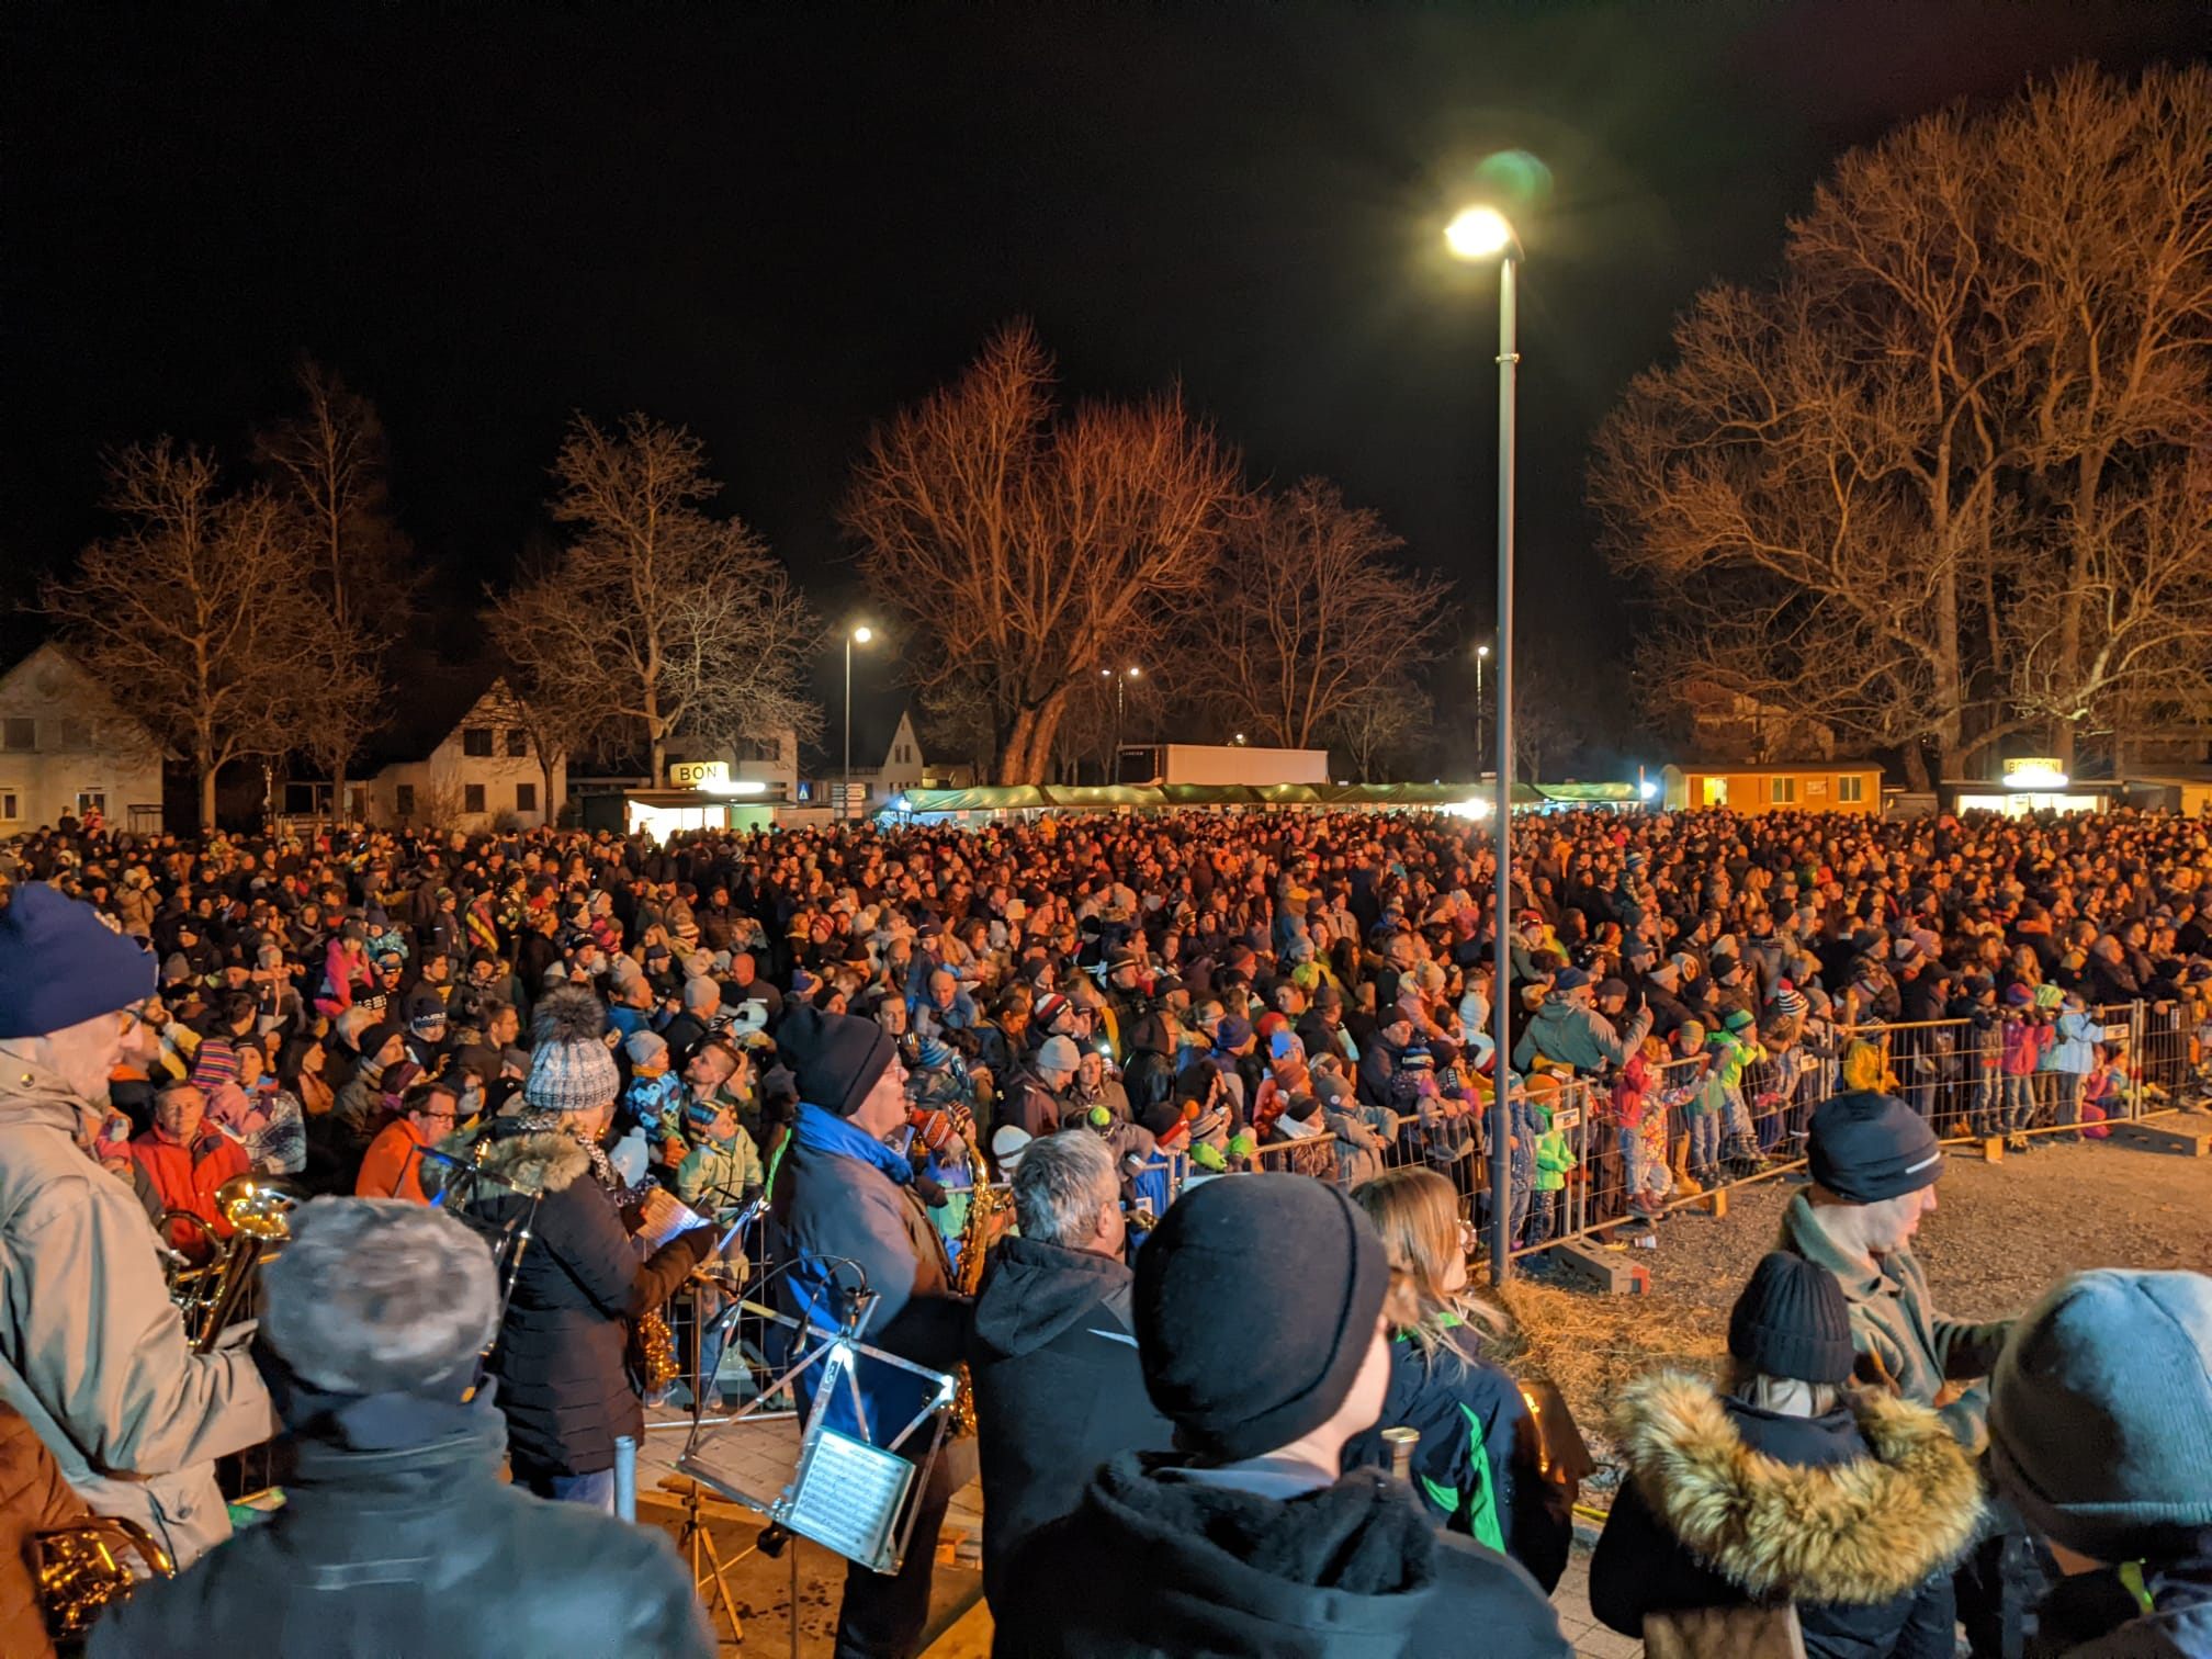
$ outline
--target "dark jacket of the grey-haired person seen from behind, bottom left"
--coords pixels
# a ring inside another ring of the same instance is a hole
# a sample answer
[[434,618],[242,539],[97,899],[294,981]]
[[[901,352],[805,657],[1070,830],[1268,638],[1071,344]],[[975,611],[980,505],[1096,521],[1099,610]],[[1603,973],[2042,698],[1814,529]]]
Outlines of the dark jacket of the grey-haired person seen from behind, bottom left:
[[710,1659],[664,1533],[502,1482],[500,1413],[449,1416],[389,1451],[299,1440],[283,1509],[142,1586],[93,1628],[95,1659]]

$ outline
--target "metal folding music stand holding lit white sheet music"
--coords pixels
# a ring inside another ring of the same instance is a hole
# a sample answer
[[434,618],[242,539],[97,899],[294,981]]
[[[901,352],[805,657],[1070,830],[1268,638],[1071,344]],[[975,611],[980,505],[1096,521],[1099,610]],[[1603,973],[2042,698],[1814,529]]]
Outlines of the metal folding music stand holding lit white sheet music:
[[[854,1294],[849,1316],[834,1332],[741,1301],[730,1316],[752,1312],[781,1325],[794,1363],[728,1422],[699,1425],[677,1469],[847,1562],[891,1575],[907,1557],[920,1493],[945,1444],[956,1383],[863,1343],[874,1301],[865,1290]],[[889,1418],[869,1418],[863,1365],[880,1387],[905,1396]],[[785,1391],[796,1400],[807,1374],[816,1376],[805,1413],[768,1409]]]

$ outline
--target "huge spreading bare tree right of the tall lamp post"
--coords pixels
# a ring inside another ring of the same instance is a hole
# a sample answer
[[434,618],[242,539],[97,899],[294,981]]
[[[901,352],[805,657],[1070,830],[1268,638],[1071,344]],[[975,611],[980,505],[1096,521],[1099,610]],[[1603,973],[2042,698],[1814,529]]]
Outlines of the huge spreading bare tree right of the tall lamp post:
[[1781,281],[1703,294],[1599,434],[1608,553],[1659,599],[1648,684],[1898,748],[1918,785],[1922,748],[1962,776],[2157,690],[2157,650],[2097,635],[2188,535],[2143,518],[2205,440],[2208,323],[2205,71],[2075,71],[1847,155]]

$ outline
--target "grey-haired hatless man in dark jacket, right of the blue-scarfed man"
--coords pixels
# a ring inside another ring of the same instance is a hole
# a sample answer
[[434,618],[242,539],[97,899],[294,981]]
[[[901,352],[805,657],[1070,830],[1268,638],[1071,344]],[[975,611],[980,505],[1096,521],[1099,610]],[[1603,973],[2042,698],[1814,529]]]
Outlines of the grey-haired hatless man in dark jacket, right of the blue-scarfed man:
[[1013,1172],[1022,1232],[984,1270],[969,1338],[982,1458],[982,1586],[995,1597],[1015,1544],[1075,1509],[1117,1451],[1166,1451],[1144,1391],[1121,1177],[1106,1139],[1068,1128]]

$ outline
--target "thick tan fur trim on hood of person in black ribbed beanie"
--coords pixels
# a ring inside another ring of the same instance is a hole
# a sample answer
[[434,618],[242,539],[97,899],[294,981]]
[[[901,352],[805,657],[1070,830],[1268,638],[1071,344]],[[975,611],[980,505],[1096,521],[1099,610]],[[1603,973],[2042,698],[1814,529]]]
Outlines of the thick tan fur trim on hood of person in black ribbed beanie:
[[1743,1440],[1710,1383],[1630,1383],[1615,1433],[1652,1513],[1754,1599],[1871,1606],[1958,1559],[1982,1517],[1973,1467],[1942,1418],[1847,1394],[1869,1455],[1792,1467]]

